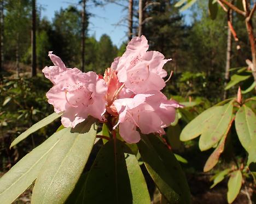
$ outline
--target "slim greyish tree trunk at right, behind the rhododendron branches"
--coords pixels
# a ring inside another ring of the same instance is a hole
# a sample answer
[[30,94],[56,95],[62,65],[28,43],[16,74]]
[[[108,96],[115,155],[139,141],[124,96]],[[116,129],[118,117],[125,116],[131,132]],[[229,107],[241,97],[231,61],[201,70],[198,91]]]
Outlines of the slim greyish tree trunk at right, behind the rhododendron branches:
[[[228,10],[228,21],[232,23],[232,10]],[[224,87],[229,82],[229,69],[230,69],[230,62],[231,62],[231,49],[232,49],[232,33],[231,29],[228,26],[228,39],[226,43],[226,68],[225,68],[225,82]],[[223,100],[228,97],[228,91],[224,90]]]

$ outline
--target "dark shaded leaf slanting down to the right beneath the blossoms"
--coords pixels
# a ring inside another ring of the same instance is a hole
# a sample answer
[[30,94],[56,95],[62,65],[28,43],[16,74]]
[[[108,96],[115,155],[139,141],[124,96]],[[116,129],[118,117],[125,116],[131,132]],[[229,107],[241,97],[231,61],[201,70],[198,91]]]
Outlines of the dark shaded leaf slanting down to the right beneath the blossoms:
[[141,135],[137,145],[150,176],[168,202],[190,203],[190,191],[182,168],[159,137]]

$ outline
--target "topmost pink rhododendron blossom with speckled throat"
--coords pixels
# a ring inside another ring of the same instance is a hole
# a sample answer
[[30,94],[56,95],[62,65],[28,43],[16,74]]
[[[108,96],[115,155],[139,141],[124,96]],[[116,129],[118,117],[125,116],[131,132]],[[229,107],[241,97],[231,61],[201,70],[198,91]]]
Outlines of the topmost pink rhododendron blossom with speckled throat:
[[157,51],[147,51],[148,40],[144,35],[133,38],[121,57],[114,59],[111,68],[117,71],[118,80],[135,93],[160,91],[165,87],[162,79],[167,75],[162,69],[171,59]]

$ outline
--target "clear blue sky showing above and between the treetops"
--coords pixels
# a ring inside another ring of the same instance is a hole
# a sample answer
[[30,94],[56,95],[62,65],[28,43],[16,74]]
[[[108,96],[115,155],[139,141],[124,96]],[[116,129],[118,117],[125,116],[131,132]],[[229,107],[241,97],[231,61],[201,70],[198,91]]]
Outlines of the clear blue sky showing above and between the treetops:
[[[42,16],[46,16],[51,20],[54,17],[55,11],[60,10],[61,7],[67,8],[70,4],[76,5],[78,2],[79,0],[38,0],[37,4],[44,8]],[[94,7],[91,6],[90,1],[86,5],[87,10],[94,15],[89,20],[89,35],[95,35],[98,40],[102,34],[106,33],[112,39],[113,44],[117,46],[120,46],[123,41],[127,40],[127,27],[116,25],[127,15],[122,7],[113,3],[106,5],[104,8]]]

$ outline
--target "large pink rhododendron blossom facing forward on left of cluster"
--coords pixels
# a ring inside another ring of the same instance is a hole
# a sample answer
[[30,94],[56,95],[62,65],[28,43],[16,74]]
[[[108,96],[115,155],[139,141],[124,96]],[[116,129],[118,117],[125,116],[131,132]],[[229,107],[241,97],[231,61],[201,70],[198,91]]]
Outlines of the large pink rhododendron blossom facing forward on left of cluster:
[[[48,76],[52,76],[51,70]],[[54,79],[55,85],[46,93],[46,97],[48,103],[54,106],[55,112],[63,111],[61,122],[64,127],[74,128],[88,115],[103,119],[106,111],[104,97],[107,86],[96,73],[92,71],[82,73],[79,69],[73,68],[66,69],[51,79]]]

